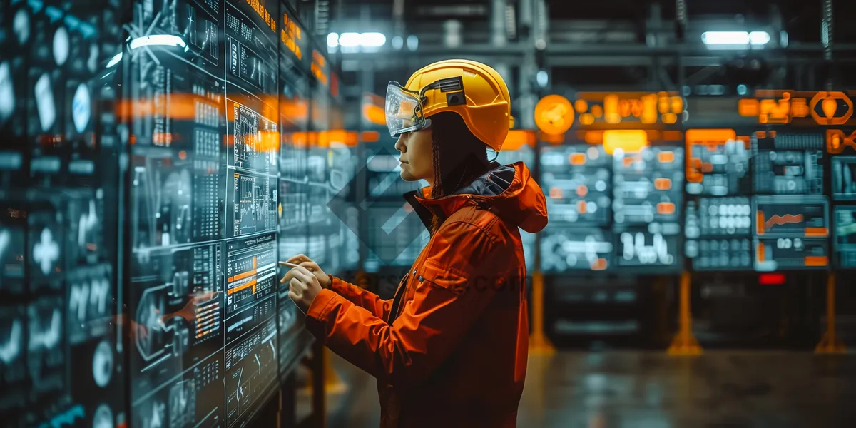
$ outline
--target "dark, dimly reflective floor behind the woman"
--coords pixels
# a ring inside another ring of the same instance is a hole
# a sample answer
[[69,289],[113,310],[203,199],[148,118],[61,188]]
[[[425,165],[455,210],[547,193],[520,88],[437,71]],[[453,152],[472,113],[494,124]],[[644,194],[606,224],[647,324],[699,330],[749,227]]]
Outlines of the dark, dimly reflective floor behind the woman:
[[[328,426],[377,427],[374,379],[335,355],[333,361],[348,389],[328,396]],[[561,352],[530,357],[518,425],[853,427],[856,354],[708,351],[683,358],[664,352]]]

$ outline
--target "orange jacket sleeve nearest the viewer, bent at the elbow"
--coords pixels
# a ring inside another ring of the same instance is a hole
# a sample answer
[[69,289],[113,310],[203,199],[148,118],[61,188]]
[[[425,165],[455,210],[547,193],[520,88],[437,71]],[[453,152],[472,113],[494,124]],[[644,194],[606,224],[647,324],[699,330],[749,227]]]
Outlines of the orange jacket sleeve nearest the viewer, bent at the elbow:
[[[415,296],[386,324],[365,308],[331,290],[312,301],[306,328],[319,341],[385,383],[413,386],[423,382],[460,344],[496,294],[479,272],[498,270],[491,253],[495,238],[470,223],[444,224],[432,239]],[[502,281],[502,278],[497,278]]]

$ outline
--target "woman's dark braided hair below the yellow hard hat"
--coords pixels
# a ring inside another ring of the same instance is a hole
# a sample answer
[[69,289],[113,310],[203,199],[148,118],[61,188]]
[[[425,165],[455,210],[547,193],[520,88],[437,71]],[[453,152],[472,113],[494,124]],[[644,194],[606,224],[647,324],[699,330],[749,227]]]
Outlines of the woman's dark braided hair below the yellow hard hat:
[[[473,135],[461,115],[454,111],[431,116],[431,146],[434,151],[431,199],[454,194],[488,170],[487,145]],[[437,231],[440,223],[443,219],[437,216],[432,219],[431,233]]]

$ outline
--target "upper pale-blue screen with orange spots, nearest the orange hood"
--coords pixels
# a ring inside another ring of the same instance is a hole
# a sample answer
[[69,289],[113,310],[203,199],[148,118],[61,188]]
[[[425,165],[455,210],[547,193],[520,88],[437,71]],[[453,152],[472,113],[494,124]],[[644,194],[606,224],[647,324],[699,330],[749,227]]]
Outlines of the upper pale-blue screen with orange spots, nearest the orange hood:
[[612,157],[603,146],[544,147],[541,181],[550,223],[582,226],[609,224],[612,207]]

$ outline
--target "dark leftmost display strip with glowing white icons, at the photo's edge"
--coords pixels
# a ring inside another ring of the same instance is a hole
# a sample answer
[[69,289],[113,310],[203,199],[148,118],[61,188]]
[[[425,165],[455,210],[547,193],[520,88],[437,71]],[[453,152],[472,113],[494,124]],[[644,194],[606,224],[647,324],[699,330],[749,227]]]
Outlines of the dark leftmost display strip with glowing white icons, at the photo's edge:
[[118,8],[0,4],[3,426],[127,423]]

